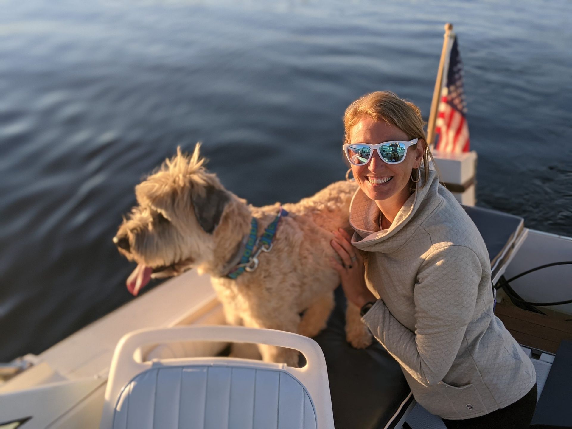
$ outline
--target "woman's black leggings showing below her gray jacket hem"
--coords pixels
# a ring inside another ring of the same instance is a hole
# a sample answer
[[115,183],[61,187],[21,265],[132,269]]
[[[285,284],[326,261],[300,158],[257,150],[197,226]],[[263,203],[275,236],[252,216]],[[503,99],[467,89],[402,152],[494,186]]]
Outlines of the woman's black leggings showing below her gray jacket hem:
[[445,420],[447,429],[525,429],[533,419],[537,401],[537,385],[517,402],[484,416],[464,420]]

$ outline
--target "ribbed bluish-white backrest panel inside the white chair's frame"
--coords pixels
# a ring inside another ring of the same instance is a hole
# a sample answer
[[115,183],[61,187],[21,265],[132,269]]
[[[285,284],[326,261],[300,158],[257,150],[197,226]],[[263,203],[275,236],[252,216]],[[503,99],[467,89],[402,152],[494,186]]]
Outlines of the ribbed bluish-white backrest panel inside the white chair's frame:
[[118,398],[113,429],[315,429],[305,388],[286,371],[240,366],[157,367]]

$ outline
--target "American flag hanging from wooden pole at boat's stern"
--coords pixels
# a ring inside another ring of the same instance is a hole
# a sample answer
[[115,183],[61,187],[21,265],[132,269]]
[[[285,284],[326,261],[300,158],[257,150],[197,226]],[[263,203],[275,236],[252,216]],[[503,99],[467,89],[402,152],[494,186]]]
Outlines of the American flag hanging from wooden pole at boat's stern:
[[445,63],[441,100],[435,123],[435,149],[440,152],[468,152],[467,102],[463,90],[463,63],[456,36],[452,40],[448,62]]

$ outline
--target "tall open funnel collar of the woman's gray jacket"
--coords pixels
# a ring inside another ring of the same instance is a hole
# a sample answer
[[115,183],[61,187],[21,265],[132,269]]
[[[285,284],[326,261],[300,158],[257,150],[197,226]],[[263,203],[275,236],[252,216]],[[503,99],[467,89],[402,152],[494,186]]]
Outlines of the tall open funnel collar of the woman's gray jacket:
[[391,227],[379,229],[380,210],[374,200],[358,188],[353,194],[349,206],[349,224],[355,230],[352,245],[367,252],[391,253],[399,249],[415,232],[416,227],[440,204],[439,176],[435,170],[429,170],[427,184],[425,172],[420,169],[420,180],[415,192],[399,209]]

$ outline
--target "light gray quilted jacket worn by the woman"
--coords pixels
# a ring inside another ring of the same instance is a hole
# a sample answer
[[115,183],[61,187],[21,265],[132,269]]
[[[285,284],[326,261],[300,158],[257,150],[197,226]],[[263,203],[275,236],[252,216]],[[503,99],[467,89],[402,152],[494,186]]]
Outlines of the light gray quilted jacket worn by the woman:
[[475,224],[430,170],[389,229],[361,189],[350,208],[352,244],[367,251],[366,283],[379,300],[363,317],[399,362],[417,402],[458,420],[522,398],[530,359],[492,312],[491,265]]

